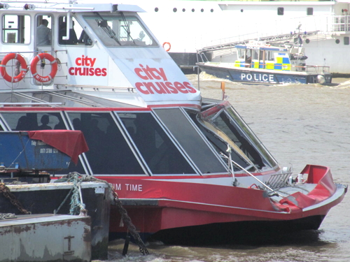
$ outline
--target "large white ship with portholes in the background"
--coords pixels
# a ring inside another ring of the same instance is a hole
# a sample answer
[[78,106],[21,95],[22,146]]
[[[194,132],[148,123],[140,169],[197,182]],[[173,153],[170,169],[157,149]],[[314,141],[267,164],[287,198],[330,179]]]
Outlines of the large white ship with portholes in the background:
[[[299,31],[307,63],[349,74],[349,1],[139,1],[141,17],[179,66],[193,71],[197,50]],[[285,41],[288,41],[286,39]],[[220,61],[221,54],[213,59]]]

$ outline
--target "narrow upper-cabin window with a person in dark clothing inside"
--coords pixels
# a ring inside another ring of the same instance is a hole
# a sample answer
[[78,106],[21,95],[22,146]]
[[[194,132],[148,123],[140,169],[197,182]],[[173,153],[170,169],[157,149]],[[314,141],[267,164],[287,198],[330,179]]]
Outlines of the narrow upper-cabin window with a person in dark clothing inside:
[[52,43],[52,19],[50,15],[38,15],[36,17],[36,45],[51,45]]

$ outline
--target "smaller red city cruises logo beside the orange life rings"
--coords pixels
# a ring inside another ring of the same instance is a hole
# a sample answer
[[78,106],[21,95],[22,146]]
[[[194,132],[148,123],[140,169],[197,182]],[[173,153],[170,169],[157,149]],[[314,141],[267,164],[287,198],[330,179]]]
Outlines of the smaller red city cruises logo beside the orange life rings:
[[82,55],[76,58],[76,66],[68,69],[69,75],[106,76],[107,68],[94,67],[96,58]]

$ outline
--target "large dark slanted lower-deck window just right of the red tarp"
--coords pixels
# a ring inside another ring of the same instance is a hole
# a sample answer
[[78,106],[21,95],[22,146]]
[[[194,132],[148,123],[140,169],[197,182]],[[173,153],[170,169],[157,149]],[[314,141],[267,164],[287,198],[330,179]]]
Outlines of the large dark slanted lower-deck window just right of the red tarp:
[[106,175],[144,175],[132,150],[109,112],[69,112],[74,130],[85,136],[85,153],[92,173]]

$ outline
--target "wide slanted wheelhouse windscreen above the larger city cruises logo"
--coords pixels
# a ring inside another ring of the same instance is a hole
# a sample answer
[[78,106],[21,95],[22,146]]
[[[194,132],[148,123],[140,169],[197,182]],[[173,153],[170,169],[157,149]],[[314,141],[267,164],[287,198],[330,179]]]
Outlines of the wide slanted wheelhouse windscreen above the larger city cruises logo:
[[83,17],[106,46],[157,46],[136,16],[95,12]]

